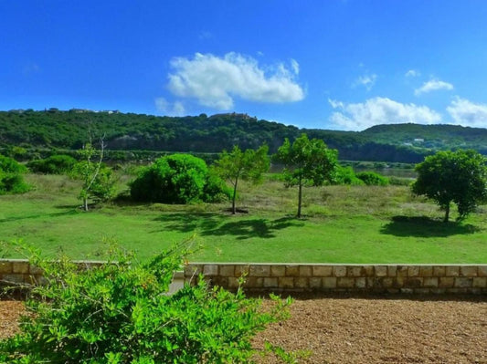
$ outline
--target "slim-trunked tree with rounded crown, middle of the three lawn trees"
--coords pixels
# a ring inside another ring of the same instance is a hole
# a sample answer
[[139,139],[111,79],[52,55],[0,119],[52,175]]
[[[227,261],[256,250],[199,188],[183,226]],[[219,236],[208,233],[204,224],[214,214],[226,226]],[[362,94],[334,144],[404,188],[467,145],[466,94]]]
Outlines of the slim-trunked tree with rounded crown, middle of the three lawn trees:
[[331,181],[337,165],[338,151],[328,149],[323,140],[309,140],[306,134],[291,144],[285,139],[274,160],[284,164],[286,186],[298,186],[298,213],[301,217],[302,186],[321,186]]

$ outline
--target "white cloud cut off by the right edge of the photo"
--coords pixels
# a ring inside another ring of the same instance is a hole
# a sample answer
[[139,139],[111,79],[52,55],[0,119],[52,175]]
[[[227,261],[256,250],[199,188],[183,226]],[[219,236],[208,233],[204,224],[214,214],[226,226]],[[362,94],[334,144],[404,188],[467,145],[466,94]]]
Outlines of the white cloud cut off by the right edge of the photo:
[[447,111],[455,124],[487,128],[487,104],[475,104],[457,97],[451,101]]

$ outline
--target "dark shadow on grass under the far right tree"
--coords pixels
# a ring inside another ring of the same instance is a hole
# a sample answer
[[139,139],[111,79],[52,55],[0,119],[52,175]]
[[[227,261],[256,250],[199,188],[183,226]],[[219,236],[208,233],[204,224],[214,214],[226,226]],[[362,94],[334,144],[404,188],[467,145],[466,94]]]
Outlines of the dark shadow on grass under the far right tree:
[[427,216],[394,216],[384,225],[381,234],[417,237],[447,237],[458,234],[473,234],[481,231],[471,224],[443,223]]

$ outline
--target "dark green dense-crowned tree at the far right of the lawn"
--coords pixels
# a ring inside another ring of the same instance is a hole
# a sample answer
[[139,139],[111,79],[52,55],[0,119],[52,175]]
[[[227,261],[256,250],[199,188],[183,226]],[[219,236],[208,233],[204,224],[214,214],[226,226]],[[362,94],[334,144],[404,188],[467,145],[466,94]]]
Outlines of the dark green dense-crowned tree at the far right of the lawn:
[[415,169],[418,179],[412,191],[438,203],[445,211],[445,222],[451,203],[457,204],[459,219],[463,219],[487,201],[487,159],[476,151],[439,151]]

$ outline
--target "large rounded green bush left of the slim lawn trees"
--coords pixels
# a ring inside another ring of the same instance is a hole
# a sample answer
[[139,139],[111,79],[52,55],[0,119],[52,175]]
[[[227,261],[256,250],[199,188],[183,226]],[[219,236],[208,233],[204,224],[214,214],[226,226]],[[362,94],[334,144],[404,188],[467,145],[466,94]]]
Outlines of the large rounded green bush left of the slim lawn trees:
[[131,183],[135,201],[151,203],[214,202],[228,196],[228,188],[208,172],[206,162],[189,154],[157,159]]

